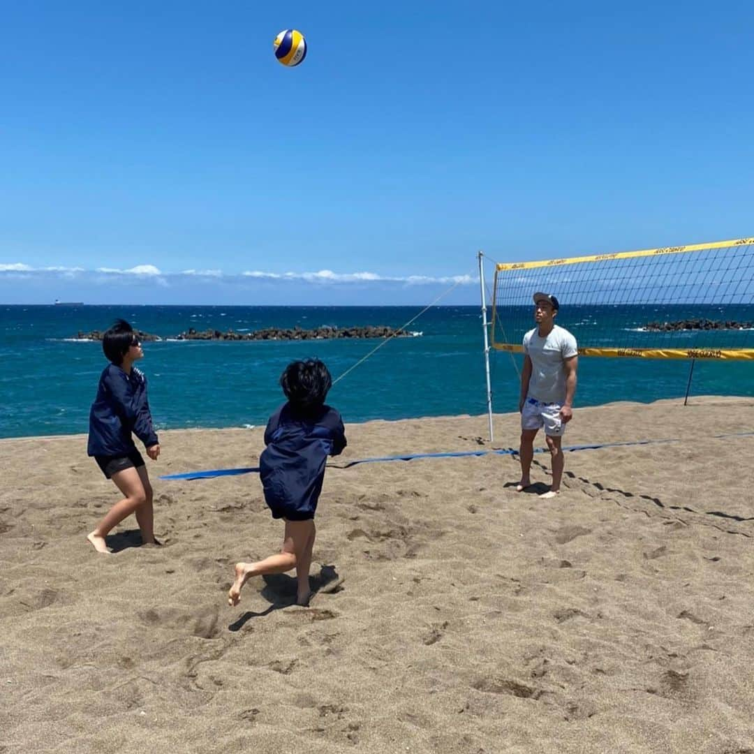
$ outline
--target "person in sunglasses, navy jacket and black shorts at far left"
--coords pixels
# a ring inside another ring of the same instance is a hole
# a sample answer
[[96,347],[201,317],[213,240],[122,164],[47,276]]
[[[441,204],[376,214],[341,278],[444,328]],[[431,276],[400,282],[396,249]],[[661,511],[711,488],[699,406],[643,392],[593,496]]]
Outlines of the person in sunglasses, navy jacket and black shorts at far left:
[[125,320],[106,331],[102,348],[109,364],[100,375],[89,412],[88,455],[124,495],[87,535],[98,553],[109,553],[105,538],[124,518],[136,513],[142,544],[155,544],[152,485],[132,433],[144,443],[152,461],[160,455],[146,395],[146,377],[133,366],[144,357],[138,336]]

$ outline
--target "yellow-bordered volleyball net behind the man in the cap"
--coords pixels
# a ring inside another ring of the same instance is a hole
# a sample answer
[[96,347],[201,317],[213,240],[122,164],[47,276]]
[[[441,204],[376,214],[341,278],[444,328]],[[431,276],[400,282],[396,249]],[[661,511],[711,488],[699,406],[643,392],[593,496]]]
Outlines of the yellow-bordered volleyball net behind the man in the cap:
[[490,345],[523,351],[532,296],[584,356],[754,360],[754,238],[495,265]]

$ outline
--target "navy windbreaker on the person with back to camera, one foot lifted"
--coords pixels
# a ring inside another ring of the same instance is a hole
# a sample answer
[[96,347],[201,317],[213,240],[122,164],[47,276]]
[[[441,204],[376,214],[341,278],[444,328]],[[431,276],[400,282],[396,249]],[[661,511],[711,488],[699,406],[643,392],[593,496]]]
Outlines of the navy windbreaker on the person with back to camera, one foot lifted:
[[265,444],[259,478],[273,518],[313,518],[327,456],[339,455],[347,444],[339,412],[320,406],[301,413],[284,403],[267,423]]

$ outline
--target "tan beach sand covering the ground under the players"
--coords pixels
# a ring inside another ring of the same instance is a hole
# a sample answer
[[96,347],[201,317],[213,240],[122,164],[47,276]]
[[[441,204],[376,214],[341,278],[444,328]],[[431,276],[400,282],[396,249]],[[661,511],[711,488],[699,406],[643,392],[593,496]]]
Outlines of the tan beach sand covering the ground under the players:
[[[263,428],[166,431],[161,547],[82,436],[0,441],[0,752],[754,752],[754,400],[578,409],[561,495],[516,494],[519,417],[347,425],[314,587],[233,564],[277,551]],[[540,440],[542,438],[539,438]],[[538,443],[541,446],[542,442]],[[544,464],[544,465],[543,465]],[[342,578],[341,584],[333,579]],[[334,586],[334,588],[333,588]]]

